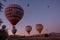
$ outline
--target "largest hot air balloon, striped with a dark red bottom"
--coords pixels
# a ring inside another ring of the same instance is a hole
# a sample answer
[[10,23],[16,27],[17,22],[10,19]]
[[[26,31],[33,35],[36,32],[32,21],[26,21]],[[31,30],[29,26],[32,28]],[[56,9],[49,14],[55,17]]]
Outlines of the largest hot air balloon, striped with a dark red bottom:
[[17,4],[10,4],[5,8],[5,16],[12,25],[16,25],[23,17],[24,10]]

